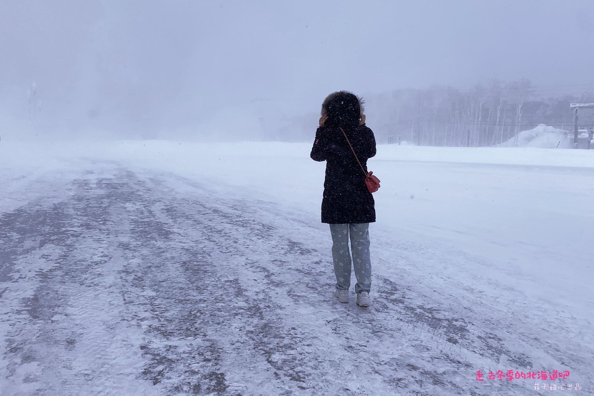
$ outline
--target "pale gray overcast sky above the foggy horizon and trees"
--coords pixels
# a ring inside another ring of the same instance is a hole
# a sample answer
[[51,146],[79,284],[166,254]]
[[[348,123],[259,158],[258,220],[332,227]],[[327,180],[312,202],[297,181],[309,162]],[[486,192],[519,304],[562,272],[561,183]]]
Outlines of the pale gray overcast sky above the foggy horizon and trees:
[[592,0],[0,0],[0,129],[189,133],[340,89],[594,83],[593,27]]

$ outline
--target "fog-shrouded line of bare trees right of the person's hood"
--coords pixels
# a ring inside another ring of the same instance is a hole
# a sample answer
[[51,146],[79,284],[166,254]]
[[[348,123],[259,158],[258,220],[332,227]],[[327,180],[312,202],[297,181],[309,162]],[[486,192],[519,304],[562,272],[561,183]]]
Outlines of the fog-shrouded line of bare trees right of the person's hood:
[[[379,143],[489,146],[541,123],[573,131],[570,103],[594,102],[592,93],[584,93],[591,88],[535,87],[522,79],[492,80],[470,90],[402,89],[367,98],[367,113]],[[592,112],[580,114],[580,125],[591,126],[593,121]]]

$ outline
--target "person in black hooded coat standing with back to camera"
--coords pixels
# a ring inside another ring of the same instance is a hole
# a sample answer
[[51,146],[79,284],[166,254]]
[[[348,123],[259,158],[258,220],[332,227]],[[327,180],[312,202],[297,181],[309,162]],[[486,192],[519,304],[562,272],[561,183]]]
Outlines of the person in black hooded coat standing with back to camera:
[[[349,145],[352,145],[352,150]],[[353,155],[353,151],[359,161]],[[322,104],[311,158],[326,161],[322,223],[330,224],[336,275],[334,296],[349,302],[351,257],[355,267],[357,304],[369,306],[371,258],[369,223],[375,221],[374,199],[365,186],[367,159],[375,156],[375,138],[365,126],[363,101],[347,91],[334,92]]]

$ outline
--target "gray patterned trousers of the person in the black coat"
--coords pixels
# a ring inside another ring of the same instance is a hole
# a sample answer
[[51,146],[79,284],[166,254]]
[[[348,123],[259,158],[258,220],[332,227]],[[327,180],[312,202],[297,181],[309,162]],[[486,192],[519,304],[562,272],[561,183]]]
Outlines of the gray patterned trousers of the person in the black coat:
[[371,257],[369,256],[369,223],[330,224],[332,234],[332,260],[336,275],[336,288],[348,290],[350,287],[350,249],[353,252],[355,267],[355,292],[371,290]]

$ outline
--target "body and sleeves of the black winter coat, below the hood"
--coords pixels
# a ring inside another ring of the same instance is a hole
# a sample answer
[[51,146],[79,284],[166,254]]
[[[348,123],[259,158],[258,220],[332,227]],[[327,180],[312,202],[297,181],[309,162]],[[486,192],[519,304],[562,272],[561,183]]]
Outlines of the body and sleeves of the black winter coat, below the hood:
[[[373,132],[365,124],[343,129],[367,173],[367,159],[375,156]],[[326,161],[322,223],[373,223],[375,202],[365,186],[365,173],[339,128],[318,128],[311,159]]]

